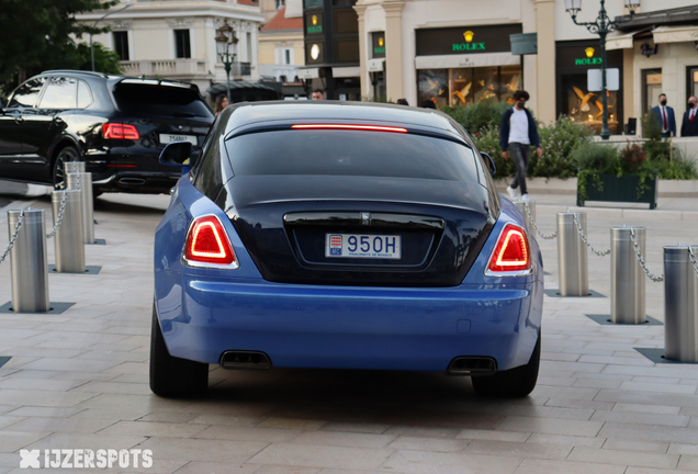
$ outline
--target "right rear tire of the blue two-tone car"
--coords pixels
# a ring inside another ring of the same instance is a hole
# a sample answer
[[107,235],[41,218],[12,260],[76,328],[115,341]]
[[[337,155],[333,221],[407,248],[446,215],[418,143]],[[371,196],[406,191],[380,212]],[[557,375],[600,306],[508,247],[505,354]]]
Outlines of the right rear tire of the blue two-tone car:
[[540,366],[540,334],[531,359],[526,365],[496,372],[492,375],[475,376],[471,381],[479,396],[522,398],[533,392]]

